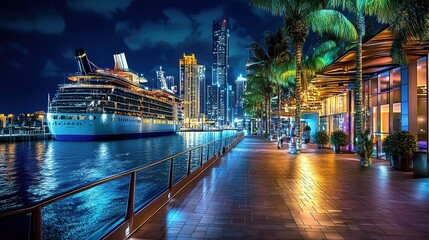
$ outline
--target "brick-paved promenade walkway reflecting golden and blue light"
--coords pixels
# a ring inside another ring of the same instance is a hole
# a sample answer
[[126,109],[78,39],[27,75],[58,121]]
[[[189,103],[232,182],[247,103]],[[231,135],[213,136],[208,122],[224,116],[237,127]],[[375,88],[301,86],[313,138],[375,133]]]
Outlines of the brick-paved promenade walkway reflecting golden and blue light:
[[131,239],[429,239],[429,179],[248,136]]

